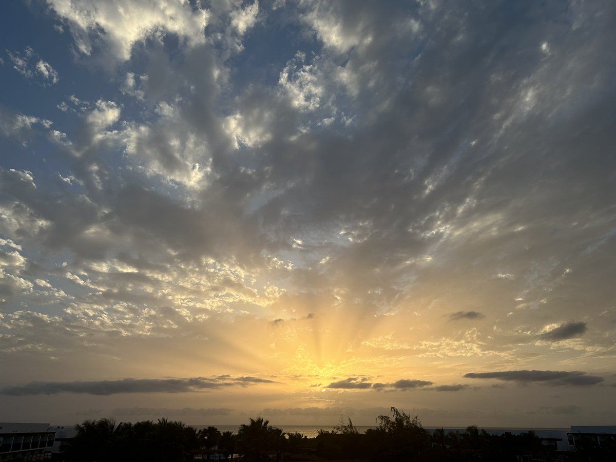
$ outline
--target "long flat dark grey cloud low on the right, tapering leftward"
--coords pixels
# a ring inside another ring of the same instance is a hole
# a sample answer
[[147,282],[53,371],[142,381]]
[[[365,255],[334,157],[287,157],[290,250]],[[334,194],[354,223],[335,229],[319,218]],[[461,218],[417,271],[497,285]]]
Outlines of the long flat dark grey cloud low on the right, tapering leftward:
[[538,370],[518,370],[500,372],[479,372],[464,374],[469,379],[497,379],[503,381],[513,381],[518,383],[538,382],[550,386],[585,386],[596,385],[603,381],[602,377],[596,375],[586,375],[580,371],[538,371]]

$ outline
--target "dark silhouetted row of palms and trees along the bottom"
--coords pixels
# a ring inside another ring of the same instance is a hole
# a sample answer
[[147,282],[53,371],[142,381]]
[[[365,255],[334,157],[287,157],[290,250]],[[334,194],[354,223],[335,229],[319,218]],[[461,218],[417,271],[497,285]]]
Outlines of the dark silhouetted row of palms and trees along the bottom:
[[[488,434],[476,426],[463,433],[421,426],[418,417],[391,408],[380,415],[376,428],[360,433],[351,419],[333,431],[321,430],[309,439],[301,433],[285,434],[262,418],[249,419],[238,434],[215,427],[196,431],[179,421],[159,419],[116,424],[113,419],[86,420],[57,460],[65,462],[180,462],[195,459],[256,461],[613,461],[616,447],[588,443],[568,453],[556,453],[541,444],[532,431],[519,435]],[[609,442],[608,442],[609,443]]]

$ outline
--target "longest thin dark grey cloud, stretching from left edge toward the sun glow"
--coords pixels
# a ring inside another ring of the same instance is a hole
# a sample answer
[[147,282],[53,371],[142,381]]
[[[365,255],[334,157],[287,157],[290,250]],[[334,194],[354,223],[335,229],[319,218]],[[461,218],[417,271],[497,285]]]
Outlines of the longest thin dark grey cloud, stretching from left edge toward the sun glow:
[[58,393],[84,393],[91,395],[113,395],[118,393],[186,393],[205,389],[219,389],[228,386],[246,386],[255,383],[274,383],[256,377],[219,376],[214,378],[188,379],[121,379],[84,382],[31,382],[25,385],[7,386],[0,394],[29,396]]

